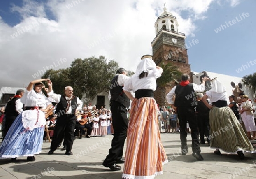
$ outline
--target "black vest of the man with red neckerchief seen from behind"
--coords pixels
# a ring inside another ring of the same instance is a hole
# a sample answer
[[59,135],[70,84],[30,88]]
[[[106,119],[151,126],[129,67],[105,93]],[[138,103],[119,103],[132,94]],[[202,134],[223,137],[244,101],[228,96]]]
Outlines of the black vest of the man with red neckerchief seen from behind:
[[196,93],[193,88],[193,84],[189,83],[186,86],[181,86],[180,84],[176,86],[175,89],[175,102],[174,106],[196,106]]

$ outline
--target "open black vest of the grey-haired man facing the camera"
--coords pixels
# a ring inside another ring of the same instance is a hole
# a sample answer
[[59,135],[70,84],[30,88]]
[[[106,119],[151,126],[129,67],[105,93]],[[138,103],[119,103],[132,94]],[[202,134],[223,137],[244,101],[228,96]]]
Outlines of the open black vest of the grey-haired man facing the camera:
[[[55,114],[57,114],[57,116],[62,116],[63,114],[65,114],[67,105],[68,105],[68,100],[65,98],[65,95],[61,95],[60,102],[56,106]],[[69,108],[72,108],[72,114],[75,114],[76,108],[77,108],[76,96],[74,96],[73,99],[71,100],[71,106],[69,106]]]

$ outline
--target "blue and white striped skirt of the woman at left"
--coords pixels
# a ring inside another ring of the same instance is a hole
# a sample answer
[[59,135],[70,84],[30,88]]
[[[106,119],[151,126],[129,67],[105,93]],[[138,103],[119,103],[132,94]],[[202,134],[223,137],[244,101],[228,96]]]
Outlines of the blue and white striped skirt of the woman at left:
[[39,154],[42,151],[43,135],[44,126],[26,130],[22,124],[22,114],[19,114],[0,146],[0,159]]

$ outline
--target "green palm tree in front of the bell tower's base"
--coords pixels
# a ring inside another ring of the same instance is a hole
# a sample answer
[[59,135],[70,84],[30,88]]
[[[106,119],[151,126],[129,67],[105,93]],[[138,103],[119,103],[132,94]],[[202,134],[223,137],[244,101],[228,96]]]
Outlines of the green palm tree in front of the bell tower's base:
[[180,78],[182,73],[177,69],[177,66],[171,63],[162,63],[160,67],[162,67],[163,73],[160,78],[156,79],[156,86],[158,91],[160,91],[160,101],[158,103],[166,105],[166,86],[171,86],[172,82],[176,82],[176,79]]

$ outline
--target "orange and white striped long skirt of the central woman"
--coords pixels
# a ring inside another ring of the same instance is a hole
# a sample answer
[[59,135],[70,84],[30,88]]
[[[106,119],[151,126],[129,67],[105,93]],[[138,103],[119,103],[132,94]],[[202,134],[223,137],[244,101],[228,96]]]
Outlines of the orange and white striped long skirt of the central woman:
[[162,166],[167,162],[166,152],[160,141],[155,99],[134,99],[131,103],[122,178],[154,178],[163,173]]

